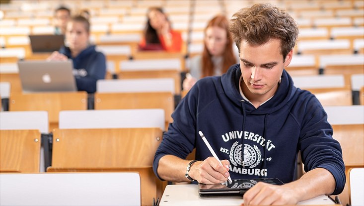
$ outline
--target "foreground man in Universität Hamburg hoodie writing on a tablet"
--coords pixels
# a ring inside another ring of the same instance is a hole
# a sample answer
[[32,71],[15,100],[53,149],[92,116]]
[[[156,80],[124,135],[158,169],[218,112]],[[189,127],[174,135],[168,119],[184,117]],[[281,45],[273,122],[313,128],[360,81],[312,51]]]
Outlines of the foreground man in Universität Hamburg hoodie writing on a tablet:
[[[230,32],[240,64],[199,80],[178,104],[155,152],[154,174],[170,182],[220,184],[230,177],[285,183],[258,182],[244,194],[245,206],[295,205],[340,194],[345,165],[327,114],[284,69],[297,42],[294,19],[271,4],[254,4],[232,16]],[[194,148],[195,160],[186,160]],[[295,180],[298,152],[306,173]]]

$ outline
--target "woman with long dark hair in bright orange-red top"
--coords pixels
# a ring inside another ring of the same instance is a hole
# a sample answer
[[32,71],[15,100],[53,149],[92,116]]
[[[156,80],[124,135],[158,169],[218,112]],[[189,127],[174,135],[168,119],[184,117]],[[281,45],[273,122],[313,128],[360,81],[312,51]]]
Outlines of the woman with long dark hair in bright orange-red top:
[[144,37],[139,44],[140,50],[181,51],[182,35],[171,28],[171,23],[162,8],[149,8],[147,19]]

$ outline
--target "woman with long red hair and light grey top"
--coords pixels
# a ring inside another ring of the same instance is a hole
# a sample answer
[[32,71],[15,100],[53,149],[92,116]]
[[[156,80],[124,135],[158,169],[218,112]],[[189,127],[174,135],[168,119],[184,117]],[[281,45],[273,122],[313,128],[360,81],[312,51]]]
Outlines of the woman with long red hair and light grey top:
[[211,19],[205,30],[204,51],[190,61],[190,73],[183,81],[183,90],[188,91],[200,78],[220,76],[237,63],[232,50],[229,22],[225,16]]

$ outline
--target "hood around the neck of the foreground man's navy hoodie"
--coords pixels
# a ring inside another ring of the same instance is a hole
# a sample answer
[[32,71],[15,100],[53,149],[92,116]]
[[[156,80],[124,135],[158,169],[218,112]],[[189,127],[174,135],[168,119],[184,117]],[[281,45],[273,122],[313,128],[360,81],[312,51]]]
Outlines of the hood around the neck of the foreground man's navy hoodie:
[[[226,96],[232,103],[237,106],[241,105],[242,97],[239,92],[239,80],[241,77],[240,64],[232,65],[226,74],[221,76],[221,85]],[[283,70],[281,83],[274,97],[263,105],[255,108],[252,104],[247,103],[245,109],[247,113],[252,114],[270,114],[282,108],[292,97],[296,88],[293,86],[291,76]]]

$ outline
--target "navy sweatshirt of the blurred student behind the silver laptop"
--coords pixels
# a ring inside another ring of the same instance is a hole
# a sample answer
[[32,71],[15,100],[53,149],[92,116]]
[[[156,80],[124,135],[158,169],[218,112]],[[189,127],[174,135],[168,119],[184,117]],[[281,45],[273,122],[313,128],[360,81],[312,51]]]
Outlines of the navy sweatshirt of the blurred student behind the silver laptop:
[[62,47],[59,51],[73,60],[74,77],[78,91],[87,93],[96,92],[96,81],[105,79],[106,59],[105,55],[95,50],[91,45],[81,51],[75,58],[71,55],[69,47]]

